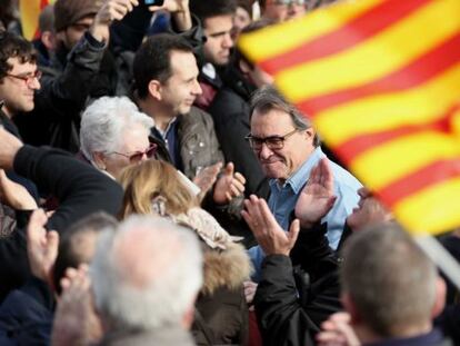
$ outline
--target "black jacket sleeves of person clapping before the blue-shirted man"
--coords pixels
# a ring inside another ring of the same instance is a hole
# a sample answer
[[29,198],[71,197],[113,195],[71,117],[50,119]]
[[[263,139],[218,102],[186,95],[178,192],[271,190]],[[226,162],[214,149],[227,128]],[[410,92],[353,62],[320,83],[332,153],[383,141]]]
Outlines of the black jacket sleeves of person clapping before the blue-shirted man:
[[263,345],[309,346],[320,324],[341,309],[338,259],[326,225],[302,229],[291,257],[267,256],[254,306]]

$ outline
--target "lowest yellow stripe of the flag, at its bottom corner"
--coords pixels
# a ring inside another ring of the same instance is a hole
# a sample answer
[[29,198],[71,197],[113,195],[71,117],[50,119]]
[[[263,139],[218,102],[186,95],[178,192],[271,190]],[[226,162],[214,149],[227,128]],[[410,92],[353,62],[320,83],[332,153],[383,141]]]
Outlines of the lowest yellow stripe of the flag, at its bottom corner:
[[393,207],[394,216],[412,234],[454,229],[459,226],[459,191],[460,178],[437,184],[399,201]]

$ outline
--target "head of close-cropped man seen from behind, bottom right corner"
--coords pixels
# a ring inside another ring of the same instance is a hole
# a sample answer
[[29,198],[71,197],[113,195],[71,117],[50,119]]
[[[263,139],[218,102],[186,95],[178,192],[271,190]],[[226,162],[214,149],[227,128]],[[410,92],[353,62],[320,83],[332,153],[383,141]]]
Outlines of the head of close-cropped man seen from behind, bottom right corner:
[[452,345],[432,326],[446,284],[399,226],[353,235],[343,258],[342,303],[362,345]]

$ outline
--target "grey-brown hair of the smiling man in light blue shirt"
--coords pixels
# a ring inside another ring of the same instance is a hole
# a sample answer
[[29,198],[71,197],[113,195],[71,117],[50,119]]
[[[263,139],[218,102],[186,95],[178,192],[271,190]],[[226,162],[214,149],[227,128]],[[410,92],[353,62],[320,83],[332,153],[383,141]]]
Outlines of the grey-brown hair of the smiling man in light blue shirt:
[[[304,117],[292,103],[288,102],[288,100],[272,86],[263,86],[252,93],[249,120],[256,111],[260,115],[264,115],[272,109],[287,112],[291,117],[292,125],[298,130],[307,130],[312,127],[310,119]],[[313,146],[318,147],[319,145],[319,136],[314,132]]]

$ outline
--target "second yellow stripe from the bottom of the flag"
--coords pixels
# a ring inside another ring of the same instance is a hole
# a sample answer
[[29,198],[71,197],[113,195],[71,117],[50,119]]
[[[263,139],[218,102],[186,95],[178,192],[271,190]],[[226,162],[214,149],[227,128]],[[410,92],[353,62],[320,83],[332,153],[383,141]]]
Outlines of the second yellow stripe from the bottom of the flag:
[[353,159],[350,168],[379,190],[440,158],[456,157],[460,157],[459,140],[442,132],[426,131],[377,146]]

